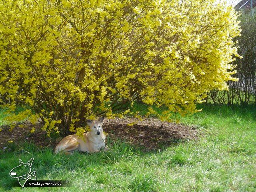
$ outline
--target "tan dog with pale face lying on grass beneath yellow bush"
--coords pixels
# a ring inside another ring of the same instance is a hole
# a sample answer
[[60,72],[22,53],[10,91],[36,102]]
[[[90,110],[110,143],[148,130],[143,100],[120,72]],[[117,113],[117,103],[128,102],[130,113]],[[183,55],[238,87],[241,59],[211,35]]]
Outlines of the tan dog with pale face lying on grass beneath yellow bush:
[[66,153],[80,150],[88,153],[98,152],[101,149],[108,150],[105,146],[106,136],[103,133],[103,119],[98,120],[86,120],[90,127],[90,131],[84,133],[84,138],[79,138],[78,135],[68,135],[64,137],[59,144],[55,147],[55,153],[64,151]]

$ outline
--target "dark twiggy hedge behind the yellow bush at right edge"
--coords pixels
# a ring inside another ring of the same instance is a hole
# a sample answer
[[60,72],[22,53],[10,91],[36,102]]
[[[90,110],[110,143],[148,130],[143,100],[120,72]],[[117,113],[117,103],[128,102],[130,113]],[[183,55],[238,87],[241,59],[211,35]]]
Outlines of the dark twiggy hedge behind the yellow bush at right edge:
[[238,54],[242,58],[233,63],[237,66],[234,77],[238,81],[228,82],[229,90],[211,90],[209,102],[218,104],[256,104],[256,8],[242,10],[239,18],[241,36],[238,41]]

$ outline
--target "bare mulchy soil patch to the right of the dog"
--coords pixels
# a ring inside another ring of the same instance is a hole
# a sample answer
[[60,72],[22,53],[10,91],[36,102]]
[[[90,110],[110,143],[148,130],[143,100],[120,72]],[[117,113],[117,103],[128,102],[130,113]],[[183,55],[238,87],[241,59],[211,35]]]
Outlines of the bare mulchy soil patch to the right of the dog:
[[118,137],[145,150],[170,146],[182,140],[196,139],[198,130],[194,126],[162,122],[156,118],[124,118],[104,120],[104,132]]

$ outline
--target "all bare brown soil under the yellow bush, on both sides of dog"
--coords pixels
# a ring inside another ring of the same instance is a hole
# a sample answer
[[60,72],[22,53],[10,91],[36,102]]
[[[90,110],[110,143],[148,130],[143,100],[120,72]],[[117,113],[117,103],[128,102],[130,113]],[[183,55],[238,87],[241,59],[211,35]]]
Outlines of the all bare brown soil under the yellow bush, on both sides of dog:
[[[49,138],[40,128],[42,124],[36,124],[35,132],[30,133],[33,125],[29,121],[17,124],[10,132],[8,126],[0,127],[0,149],[8,150],[10,143],[19,144],[22,141],[33,142],[39,147],[54,147],[56,140]],[[193,126],[161,122],[156,118],[115,118],[104,119],[104,132],[113,140],[120,138],[134,146],[145,150],[156,150],[163,146],[170,146],[183,140],[196,139],[198,130]],[[7,148],[6,148],[7,147]]]

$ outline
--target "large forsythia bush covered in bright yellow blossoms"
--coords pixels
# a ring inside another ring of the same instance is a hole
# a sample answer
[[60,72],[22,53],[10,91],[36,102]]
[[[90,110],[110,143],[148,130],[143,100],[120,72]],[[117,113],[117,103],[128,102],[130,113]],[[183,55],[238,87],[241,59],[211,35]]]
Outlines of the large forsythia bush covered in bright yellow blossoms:
[[48,134],[83,132],[85,118],[134,100],[195,112],[235,80],[236,19],[215,0],[1,1],[0,103]]

